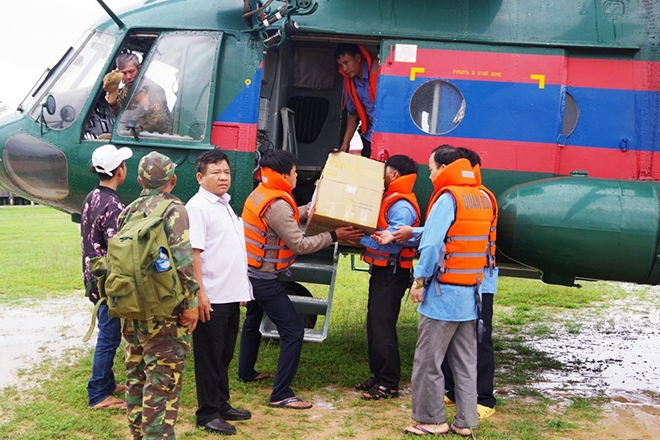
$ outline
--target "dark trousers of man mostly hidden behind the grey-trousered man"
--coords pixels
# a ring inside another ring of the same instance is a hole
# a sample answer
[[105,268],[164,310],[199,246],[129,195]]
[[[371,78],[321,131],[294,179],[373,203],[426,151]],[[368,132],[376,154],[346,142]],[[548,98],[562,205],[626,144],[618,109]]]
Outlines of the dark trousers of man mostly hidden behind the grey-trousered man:
[[[495,352],[493,351],[493,295],[483,293],[481,295],[482,319],[484,320],[484,333],[481,342],[477,343],[477,403],[495,407],[495,396],[493,395],[493,378],[495,377]],[[445,376],[445,388],[447,397],[454,402],[454,376],[445,360],[442,363],[442,373]]]

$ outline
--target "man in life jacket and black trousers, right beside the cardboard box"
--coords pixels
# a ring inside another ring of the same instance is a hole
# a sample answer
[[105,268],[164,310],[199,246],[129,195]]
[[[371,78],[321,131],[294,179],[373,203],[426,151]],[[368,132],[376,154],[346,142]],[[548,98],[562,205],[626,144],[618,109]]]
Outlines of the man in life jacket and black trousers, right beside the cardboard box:
[[[385,162],[385,194],[378,216],[378,228],[395,231],[397,226],[417,226],[419,205],[413,194],[417,164],[404,155]],[[370,265],[367,304],[367,345],[372,377],[355,385],[368,400],[398,397],[401,363],[396,323],[401,299],[410,285],[415,250],[399,243],[381,246],[370,236],[360,240],[363,259]]]

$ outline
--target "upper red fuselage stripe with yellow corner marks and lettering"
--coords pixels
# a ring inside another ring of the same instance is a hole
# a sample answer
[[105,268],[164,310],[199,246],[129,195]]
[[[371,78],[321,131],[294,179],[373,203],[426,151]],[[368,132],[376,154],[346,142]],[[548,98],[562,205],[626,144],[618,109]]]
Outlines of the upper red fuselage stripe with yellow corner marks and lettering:
[[414,63],[385,61],[385,75],[448,80],[538,84],[532,75],[544,75],[545,84],[620,90],[660,91],[660,62],[565,58],[558,55],[418,49]]

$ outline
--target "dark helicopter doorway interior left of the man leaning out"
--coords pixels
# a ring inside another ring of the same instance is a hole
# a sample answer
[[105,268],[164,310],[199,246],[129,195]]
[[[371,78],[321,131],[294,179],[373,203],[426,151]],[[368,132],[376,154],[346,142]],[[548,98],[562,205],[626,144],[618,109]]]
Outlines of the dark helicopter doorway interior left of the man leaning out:
[[[375,54],[371,43],[367,48]],[[345,129],[337,44],[299,36],[264,58],[258,150],[297,151],[293,194],[300,205],[311,200],[328,153],[339,148]]]

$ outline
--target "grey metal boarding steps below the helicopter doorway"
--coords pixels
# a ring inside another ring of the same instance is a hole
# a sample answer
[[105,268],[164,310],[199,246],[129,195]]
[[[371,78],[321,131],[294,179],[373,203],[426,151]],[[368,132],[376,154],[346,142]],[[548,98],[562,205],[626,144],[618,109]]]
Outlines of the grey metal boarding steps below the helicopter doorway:
[[[306,328],[304,341],[323,342],[328,336],[330,324],[330,309],[332,296],[335,290],[335,278],[337,276],[337,262],[339,260],[339,245],[321,249],[313,254],[298,255],[296,261],[289,267],[288,273],[280,274],[281,281],[298,283],[322,284],[328,286],[327,298],[313,298],[307,296],[289,295],[293,306],[299,314],[324,315],[323,328]],[[275,324],[264,313],[259,328],[264,338],[279,339]]]

